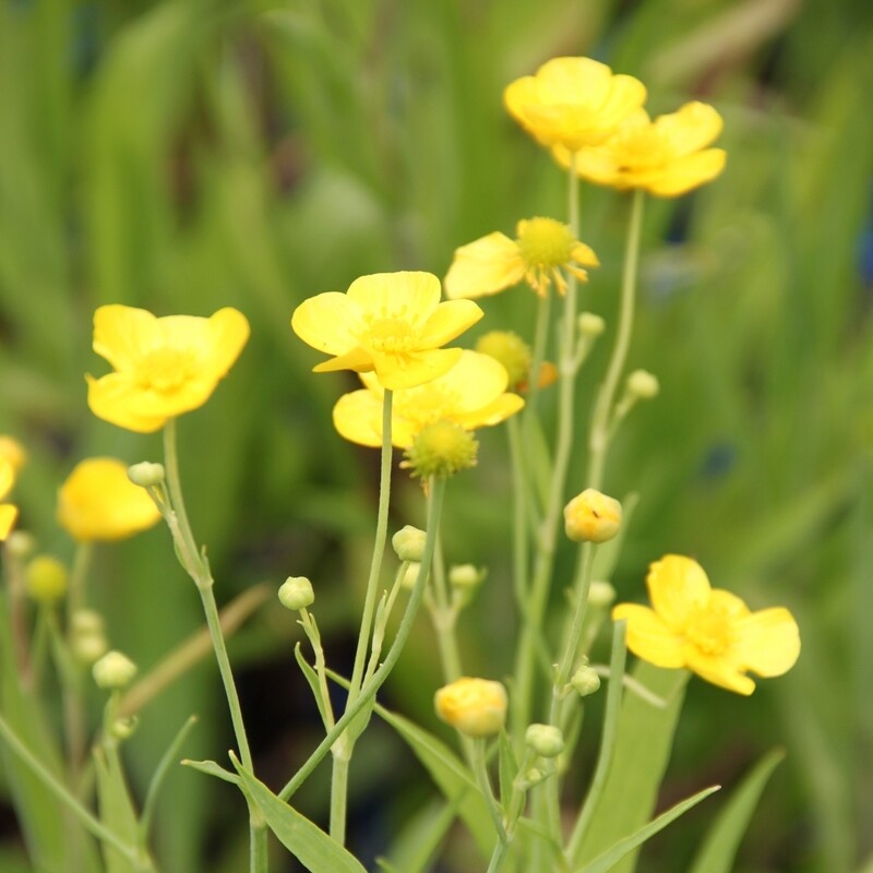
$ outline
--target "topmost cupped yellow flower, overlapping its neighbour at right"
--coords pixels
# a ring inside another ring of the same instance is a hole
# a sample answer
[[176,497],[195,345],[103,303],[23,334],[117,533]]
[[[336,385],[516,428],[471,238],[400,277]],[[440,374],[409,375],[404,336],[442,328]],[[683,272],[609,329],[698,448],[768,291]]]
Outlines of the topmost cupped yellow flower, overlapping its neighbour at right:
[[642,82],[590,58],[553,58],[503,93],[510,115],[540,144],[571,152],[603,142],[645,99]]

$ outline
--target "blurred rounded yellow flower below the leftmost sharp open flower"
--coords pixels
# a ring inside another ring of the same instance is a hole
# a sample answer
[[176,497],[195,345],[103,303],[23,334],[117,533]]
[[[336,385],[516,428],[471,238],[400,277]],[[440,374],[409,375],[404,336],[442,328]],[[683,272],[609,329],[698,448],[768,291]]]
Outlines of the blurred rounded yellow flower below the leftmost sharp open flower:
[[131,537],[155,525],[160,513],[113,457],[80,462],[58,490],[58,523],[79,542]]

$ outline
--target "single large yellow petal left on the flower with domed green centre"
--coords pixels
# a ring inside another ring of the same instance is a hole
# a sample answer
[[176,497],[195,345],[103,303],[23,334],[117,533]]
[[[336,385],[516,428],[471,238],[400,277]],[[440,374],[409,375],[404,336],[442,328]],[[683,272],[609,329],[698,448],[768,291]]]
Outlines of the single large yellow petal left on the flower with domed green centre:
[[518,244],[495,230],[457,249],[443,285],[450,300],[487,297],[517,285],[524,275]]

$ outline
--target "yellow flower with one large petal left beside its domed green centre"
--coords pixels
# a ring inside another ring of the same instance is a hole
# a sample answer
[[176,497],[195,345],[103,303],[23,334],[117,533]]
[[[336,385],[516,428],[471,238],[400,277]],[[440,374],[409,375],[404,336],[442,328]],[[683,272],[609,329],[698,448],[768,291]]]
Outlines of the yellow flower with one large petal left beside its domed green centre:
[[543,297],[552,282],[566,291],[562,271],[586,282],[586,266],[598,266],[597,255],[573,237],[567,225],[554,218],[518,222],[517,239],[494,231],[455,251],[445,277],[445,296],[487,297],[523,279]]

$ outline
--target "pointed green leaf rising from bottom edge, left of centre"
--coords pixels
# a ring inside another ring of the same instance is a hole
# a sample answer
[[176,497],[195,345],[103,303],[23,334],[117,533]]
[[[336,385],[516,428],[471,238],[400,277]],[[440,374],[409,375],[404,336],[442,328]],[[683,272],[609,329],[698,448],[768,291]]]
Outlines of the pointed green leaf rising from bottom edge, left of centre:
[[261,810],[271,830],[310,873],[367,873],[355,857],[336,840],[285,801],[279,800],[263,782],[241,766],[239,775],[246,787],[246,793]]

